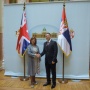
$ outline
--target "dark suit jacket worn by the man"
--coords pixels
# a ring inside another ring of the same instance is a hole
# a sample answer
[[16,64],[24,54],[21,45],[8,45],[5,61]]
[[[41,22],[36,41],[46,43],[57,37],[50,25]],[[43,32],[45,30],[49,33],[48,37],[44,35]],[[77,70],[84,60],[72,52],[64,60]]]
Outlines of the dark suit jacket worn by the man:
[[45,63],[51,64],[52,61],[57,63],[57,53],[57,43],[56,41],[51,40],[49,45],[47,45],[47,42],[44,43],[43,51],[40,55],[43,56],[45,54]]

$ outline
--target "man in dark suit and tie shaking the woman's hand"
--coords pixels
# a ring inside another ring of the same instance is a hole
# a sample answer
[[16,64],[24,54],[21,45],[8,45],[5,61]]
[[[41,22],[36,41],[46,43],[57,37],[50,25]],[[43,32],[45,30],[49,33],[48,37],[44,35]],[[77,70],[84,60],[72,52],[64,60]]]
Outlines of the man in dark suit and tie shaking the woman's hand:
[[51,84],[50,80],[50,72],[52,73],[52,86],[51,88],[55,88],[56,86],[56,63],[57,63],[57,43],[51,39],[51,34],[46,33],[46,42],[44,43],[42,53],[37,57],[42,57],[45,55],[45,68],[46,68],[46,78],[47,82],[43,86],[47,86]]

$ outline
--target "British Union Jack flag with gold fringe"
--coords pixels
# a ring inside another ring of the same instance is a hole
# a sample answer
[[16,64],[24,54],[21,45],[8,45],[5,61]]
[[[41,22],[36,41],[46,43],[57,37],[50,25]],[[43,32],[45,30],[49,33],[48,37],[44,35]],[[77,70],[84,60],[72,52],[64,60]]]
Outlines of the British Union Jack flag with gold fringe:
[[18,35],[16,50],[18,54],[20,54],[20,56],[23,57],[28,45],[30,44],[30,37],[28,33],[28,28],[27,28],[25,10],[23,11],[23,14],[22,14],[21,26],[18,32],[19,32],[19,35]]

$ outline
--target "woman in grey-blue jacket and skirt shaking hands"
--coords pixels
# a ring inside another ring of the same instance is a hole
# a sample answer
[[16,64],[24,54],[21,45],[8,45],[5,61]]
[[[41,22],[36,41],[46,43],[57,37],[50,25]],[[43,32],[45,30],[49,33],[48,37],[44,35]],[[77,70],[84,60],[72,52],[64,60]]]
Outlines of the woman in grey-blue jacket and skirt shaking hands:
[[35,75],[40,72],[40,58],[37,57],[39,53],[39,47],[37,46],[37,40],[35,37],[30,39],[30,45],[28,46],[28,74],[31,78],[31,87],[34,87],[37,82],[35,81]]

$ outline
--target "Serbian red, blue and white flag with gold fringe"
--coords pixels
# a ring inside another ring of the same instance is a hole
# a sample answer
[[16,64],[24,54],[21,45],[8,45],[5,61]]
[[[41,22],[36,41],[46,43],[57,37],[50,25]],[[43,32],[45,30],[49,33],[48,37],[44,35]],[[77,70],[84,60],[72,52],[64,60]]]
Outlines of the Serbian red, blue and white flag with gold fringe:
[[62,18],[57,43],[61,47],[61,50],[63,51],[65,56],[69,56],[72,51],[72,45],[68,22],[66,18],[65,5],[63,5]]

